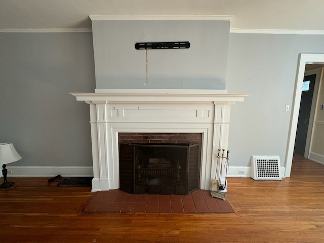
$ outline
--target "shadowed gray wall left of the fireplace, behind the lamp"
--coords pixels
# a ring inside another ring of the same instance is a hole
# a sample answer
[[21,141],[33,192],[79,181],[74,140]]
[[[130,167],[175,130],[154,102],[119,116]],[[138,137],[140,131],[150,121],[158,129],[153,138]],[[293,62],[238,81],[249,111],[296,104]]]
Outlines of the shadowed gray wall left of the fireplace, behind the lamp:
[[0,33],[0,141],[22,159],[12,166],[92,166],[89,105],[91,33]]

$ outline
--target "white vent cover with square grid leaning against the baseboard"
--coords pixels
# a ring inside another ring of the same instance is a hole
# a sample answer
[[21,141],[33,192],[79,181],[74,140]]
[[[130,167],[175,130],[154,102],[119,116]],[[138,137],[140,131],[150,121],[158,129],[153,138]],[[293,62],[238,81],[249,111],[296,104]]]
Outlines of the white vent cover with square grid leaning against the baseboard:
[[279,156],[252,156],[251,177],[254,180],[281,180]]

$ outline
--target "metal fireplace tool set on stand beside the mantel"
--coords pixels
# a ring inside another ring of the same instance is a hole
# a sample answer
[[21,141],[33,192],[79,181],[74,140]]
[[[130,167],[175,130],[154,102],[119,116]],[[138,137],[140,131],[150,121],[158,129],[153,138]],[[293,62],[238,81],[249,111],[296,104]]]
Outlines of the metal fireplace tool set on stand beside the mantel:
[[[226,200],[225,193],[222,191],[226,191],[227,168],[229,167],[228,165],[229,150],[227,150],[226,157],[224,156],[225,149],[222,149],[222,155],[220,155],[220,152],[221,149],[218,149],[215,180],[212,181],[211,196]],[[226,168],[224,184],[222,184],[223,167],[224,169]]]

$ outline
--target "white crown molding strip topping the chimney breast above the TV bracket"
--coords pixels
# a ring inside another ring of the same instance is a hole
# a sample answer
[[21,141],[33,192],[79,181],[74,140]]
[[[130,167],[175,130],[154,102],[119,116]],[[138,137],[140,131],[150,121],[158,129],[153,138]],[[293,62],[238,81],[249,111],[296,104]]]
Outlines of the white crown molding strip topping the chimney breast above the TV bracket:
[[223,20],[230,21],[232,15],[90,15],[97,20]]

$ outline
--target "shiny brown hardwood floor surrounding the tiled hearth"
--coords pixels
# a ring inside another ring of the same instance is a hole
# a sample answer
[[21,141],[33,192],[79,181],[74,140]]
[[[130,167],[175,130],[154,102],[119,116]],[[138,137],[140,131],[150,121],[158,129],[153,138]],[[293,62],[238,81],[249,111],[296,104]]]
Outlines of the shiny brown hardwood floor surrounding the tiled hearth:
[[90,188],[8,178],[0,242],[323,242],[324,166],[295,156],[282,181],[228,178],[233,214],[83,214]]

